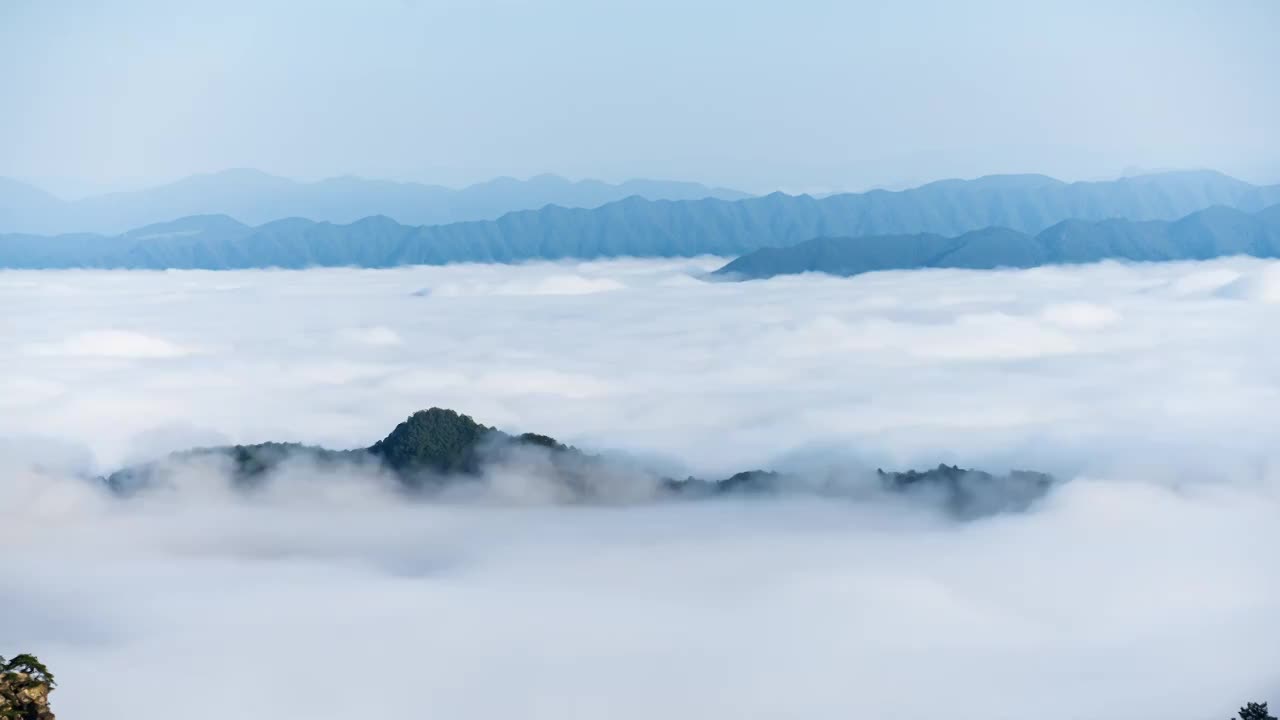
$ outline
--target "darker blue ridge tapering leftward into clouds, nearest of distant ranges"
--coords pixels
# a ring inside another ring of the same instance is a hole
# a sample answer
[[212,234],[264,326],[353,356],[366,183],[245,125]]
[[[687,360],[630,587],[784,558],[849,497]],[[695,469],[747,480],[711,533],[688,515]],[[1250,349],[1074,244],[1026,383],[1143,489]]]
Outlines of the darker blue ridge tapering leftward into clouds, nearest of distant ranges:
[[713,275],[762,279],[796,273],[856,275],[920,268],[1034,268],[1100,260],[1280,258],[1280,205],[1260,213],[1210,208],[1175,222],[1065,220],[1034,236],[986,228],[956,237],[820,237],[749,252]]

